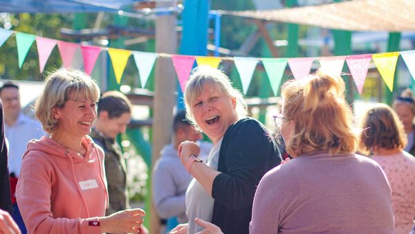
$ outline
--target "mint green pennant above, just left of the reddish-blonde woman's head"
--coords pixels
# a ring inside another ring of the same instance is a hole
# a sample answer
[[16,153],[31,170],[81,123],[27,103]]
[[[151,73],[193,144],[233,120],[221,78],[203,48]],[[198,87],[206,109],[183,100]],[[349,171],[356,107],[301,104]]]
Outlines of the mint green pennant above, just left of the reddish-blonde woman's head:
[[271,88],[274,96],[277,96],[279,86],[281,85],[282,75],[286,69],[288,60],[286,58],[266,58],[262,59],[262,64],[268,78],[270,79]]

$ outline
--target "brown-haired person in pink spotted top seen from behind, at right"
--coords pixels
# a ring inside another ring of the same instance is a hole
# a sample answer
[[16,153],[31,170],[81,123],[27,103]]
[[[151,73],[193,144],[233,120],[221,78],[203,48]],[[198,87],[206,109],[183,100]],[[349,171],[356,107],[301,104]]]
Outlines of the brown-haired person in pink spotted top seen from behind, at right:
[[366,111],[360,125],[360,151],[371,155],[385,171],[392,190],[394,233],[409,233],[414,219],[415,159],[403,148],[407,141],[395,111],[377,104]]

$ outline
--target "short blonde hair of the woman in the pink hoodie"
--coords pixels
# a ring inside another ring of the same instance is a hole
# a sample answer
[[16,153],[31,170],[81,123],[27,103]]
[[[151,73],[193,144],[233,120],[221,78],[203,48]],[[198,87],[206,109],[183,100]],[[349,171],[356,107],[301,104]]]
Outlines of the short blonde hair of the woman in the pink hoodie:
[[95,81],[79,70],[59,69],[50,73],[45,82],[44,92],[35,105],[35,116],[49,134],[58,123],[53,116],[53,107],[63,108],[69,99],[96,102],[100,98],[100,88]]

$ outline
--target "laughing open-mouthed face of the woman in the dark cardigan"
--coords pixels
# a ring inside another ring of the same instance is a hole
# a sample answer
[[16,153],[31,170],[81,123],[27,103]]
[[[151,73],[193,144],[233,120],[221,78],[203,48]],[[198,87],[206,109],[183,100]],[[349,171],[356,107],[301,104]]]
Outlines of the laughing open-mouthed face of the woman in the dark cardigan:
[[238,120],[236,106],[236,98],[226,96],[216,85],[210,83],[203,84],[199,96],[190,103],[194,120],[214,143]]

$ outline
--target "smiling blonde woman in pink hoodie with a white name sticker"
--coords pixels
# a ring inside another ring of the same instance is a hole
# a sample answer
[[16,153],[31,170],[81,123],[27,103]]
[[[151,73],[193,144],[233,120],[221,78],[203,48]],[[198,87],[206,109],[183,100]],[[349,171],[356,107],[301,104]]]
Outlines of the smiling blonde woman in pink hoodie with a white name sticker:
[[144,210],[104,217],[104,152],[88,136],[99,96],[80,71],[59,69],[46,79],[35,114],[50,136],[28,143],[16,192],[28,233],[142,233]]

